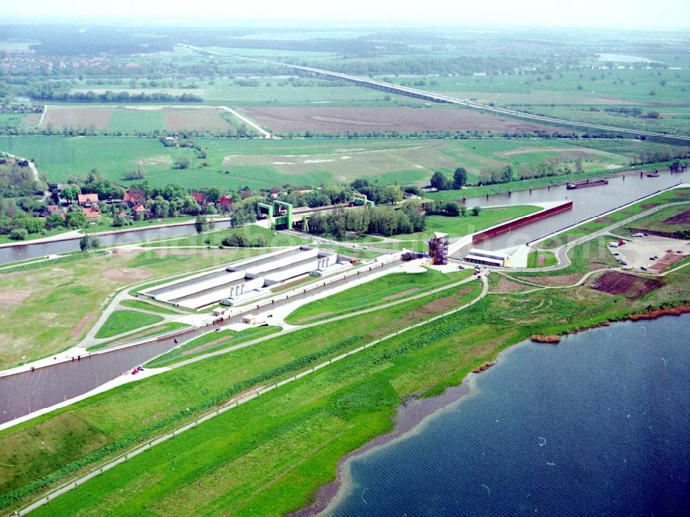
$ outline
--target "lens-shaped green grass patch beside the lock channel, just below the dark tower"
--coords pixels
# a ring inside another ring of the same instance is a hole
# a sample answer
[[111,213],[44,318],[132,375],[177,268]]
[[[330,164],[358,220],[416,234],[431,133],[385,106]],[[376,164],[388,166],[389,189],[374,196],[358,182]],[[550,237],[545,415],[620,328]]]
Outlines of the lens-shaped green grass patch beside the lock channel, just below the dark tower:
[[423,273],[391,273],[302,305],[285,318],[285,321],[291,325],[314,323],[348,312],[384,305],[406,296],[414,296],[460,281],[468,276],[472,276],[471,271],[458,271],[449,274],[434,270],[427,270]]

